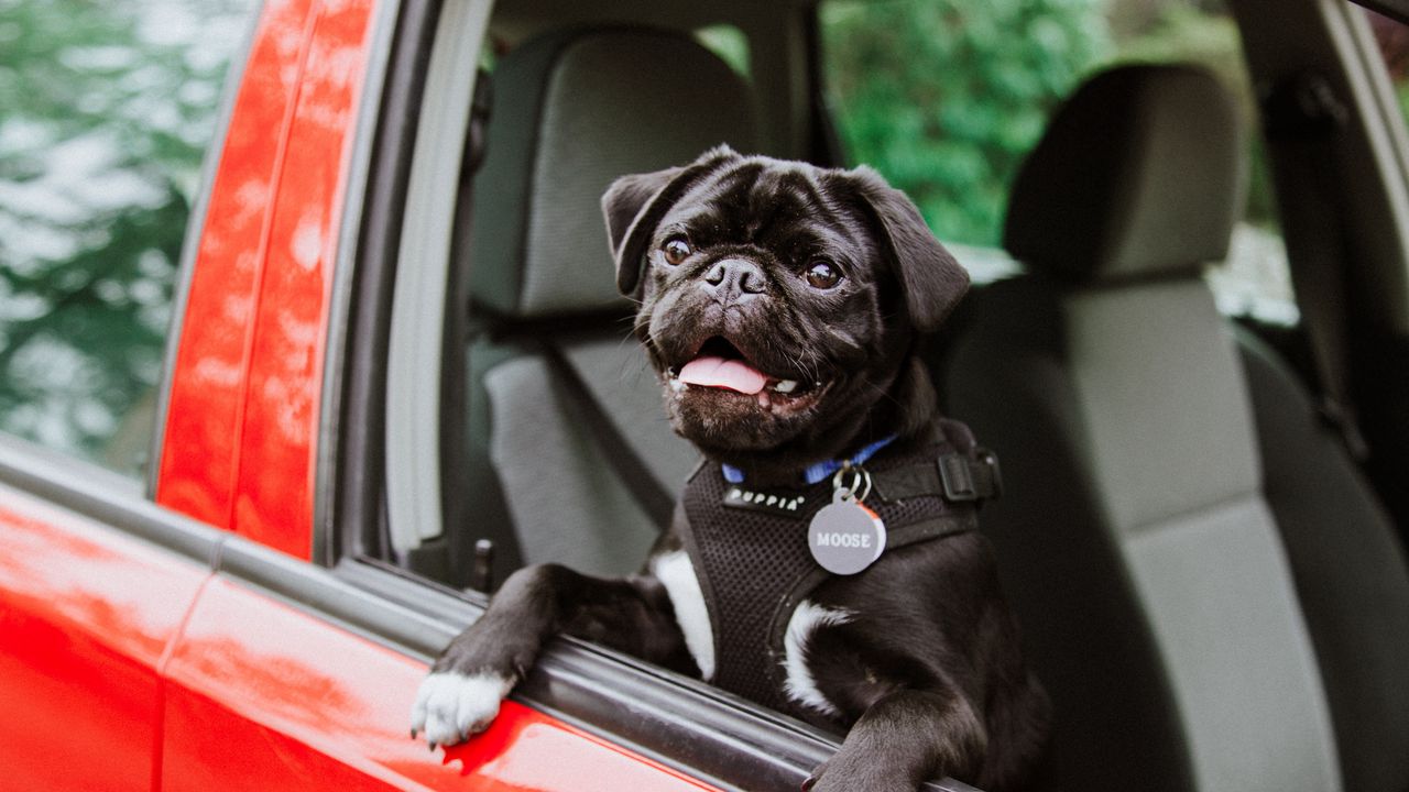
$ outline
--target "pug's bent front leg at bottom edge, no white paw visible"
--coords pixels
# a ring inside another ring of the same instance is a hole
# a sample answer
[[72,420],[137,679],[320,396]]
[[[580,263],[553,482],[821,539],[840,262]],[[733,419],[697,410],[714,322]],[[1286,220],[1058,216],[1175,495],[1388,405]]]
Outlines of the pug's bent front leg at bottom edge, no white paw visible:
[[975,779],[986,748],[983,722],[962,695],[899,689],[865,710],[803,789],[914,792],[941,775]]

